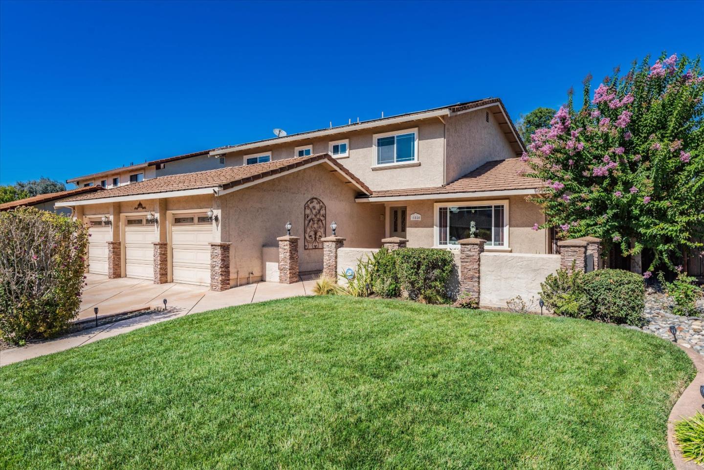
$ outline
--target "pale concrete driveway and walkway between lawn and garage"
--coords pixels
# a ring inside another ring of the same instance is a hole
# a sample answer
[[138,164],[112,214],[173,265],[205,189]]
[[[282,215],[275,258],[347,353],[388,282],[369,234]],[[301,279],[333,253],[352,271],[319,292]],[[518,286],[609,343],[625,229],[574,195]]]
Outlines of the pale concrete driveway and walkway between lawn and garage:
[[[0,351],[0,366],[87,345],[103,338],[121,335],[143,326],[184,315],[265,300],[310,295],[315,280],[304,280],[295,284],[252,283],[222,292],[213,292],[203,286],[175,283],[157,285],[151,280],[108,279],[107,276],[96,274],[89,274],[87,283],[83,291],[78,319],[93,318],[94,307],[98,307],[99,315],[116,314],[140,307],[161,309],[161,311],[82,330],[56,340]],[[163,299],[167,299],[166,311],[163,311]]]

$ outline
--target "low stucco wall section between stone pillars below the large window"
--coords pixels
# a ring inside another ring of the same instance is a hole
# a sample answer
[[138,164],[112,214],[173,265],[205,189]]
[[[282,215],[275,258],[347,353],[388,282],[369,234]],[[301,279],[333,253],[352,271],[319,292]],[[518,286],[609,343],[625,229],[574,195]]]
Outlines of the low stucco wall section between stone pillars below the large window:
[[482,253],[479,268],[479,305],[506,308],[520,295],[526,303],[534,297],[538,306],[540,283],[560,268],[559,254]]

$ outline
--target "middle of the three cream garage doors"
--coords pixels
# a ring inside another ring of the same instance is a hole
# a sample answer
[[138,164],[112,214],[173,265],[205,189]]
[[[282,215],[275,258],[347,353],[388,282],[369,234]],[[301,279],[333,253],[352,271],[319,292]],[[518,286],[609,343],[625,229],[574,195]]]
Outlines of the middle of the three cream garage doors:
[[144,216],[125,221],[125,276],[154,278],[154,245],[158,241],[155,225]]

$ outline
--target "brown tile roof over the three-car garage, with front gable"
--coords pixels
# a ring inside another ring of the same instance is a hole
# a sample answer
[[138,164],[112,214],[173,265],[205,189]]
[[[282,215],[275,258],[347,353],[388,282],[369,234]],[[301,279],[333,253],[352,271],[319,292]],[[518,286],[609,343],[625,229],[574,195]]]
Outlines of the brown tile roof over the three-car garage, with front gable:
[[82,194],[68,199],[68,202],[85,201],[88,199],[106,199],[109,197],[138,196],[139,194],[153,194],[160,192],[197,190],[204,187],[221,187],[228,189],[252,181],[260,180],[268,176],[285,173],[308,163],[325,160],[332,166],[344,173],[350,180],[363,188],[367,194],[372,191],[362,183],[355,175],[350,173],[338,161],[329,154],[315,154],[301,156],[294,159],[284,159],[269,161],[267,163],[257,163],[256,165],[228,166],[217,170],[199,171],[196,173],[180,173],[178,175],[160,176],[151,180],[144,180],[139,183],[115,187],[105,190],[100,194]]

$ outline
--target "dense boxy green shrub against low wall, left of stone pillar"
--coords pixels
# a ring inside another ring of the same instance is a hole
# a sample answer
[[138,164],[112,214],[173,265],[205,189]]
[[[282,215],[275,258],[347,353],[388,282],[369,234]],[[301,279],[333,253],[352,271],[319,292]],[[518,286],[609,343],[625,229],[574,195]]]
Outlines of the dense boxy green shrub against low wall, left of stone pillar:
[[453,255],[446,249],[402,248],[394,251],[401,289],[429,304],[447,302]]

